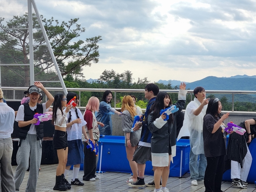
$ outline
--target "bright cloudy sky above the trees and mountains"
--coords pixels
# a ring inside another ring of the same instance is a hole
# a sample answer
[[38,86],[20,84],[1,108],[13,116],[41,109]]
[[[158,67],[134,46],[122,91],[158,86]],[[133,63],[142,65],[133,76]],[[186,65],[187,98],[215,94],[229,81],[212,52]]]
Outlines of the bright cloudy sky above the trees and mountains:
[[79,18],[80,39],[102,36],[99,63],[132,71],[134,80],[193,82],[207,76],[256,74],[255,0],[35,0],[39,13]]

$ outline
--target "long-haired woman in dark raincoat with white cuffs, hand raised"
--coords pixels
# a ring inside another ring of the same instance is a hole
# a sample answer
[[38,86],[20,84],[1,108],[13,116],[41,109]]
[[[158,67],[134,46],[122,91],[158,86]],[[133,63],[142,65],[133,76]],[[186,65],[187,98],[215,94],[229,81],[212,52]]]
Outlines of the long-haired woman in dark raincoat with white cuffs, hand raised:
[[[176,108],[183,109],[185,107],[187,94],[185,88],[185,83],[180,85],[178,101],[174,104],[177,106]],[[170,106],[173,106],[170,95],[166,92],[159,92],[146,120],[148,129],[153,135],[151,138],[151,157],[152,166],[155,167],[154,192],[169,191],[166,184],[170,172],[170,162],[176,156],[176,113],[178,111],[169,114],[168,120],[166,120],[168,115],[165,112],[160,114],[161,110]],[[162,187],[160,186],[161,177]]]

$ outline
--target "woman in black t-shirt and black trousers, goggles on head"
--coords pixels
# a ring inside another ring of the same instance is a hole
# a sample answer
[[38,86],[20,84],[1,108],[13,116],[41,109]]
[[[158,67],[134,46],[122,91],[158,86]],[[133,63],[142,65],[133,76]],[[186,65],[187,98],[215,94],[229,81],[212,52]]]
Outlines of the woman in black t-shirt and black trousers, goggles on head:
[[219,99],[212,98],[208,102],[206,115],[203,118],[204,155],[207,159],[204,174],[205,192],[221,192],[225,155],[227,154],[223,121],[229,117],[229,113],[221,116],[221,109],[222,105]]

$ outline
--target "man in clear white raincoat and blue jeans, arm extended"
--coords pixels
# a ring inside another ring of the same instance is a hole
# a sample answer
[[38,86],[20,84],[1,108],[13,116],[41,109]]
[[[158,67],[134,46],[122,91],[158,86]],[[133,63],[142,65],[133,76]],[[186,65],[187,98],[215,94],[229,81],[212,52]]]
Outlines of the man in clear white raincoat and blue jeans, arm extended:
[[190,135],[190,180],[191,185],[197,185],[197,181],[204,180],[207,166],[204,155],[203,117],[206,114],[209,99],[206,99],[206,92],[203,87],[196,87],[193,93],[195,95],[194,101],[191,101],[186,108],[184,123],[177,139]]

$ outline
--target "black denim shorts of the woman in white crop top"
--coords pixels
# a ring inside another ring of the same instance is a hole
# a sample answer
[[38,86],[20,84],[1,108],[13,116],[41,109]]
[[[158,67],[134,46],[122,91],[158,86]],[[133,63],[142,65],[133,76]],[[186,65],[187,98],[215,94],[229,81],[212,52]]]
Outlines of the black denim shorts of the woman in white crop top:
[[53,135],[53,149],[66,149],[68,147],[68,134],[66,131],[54,131]]

